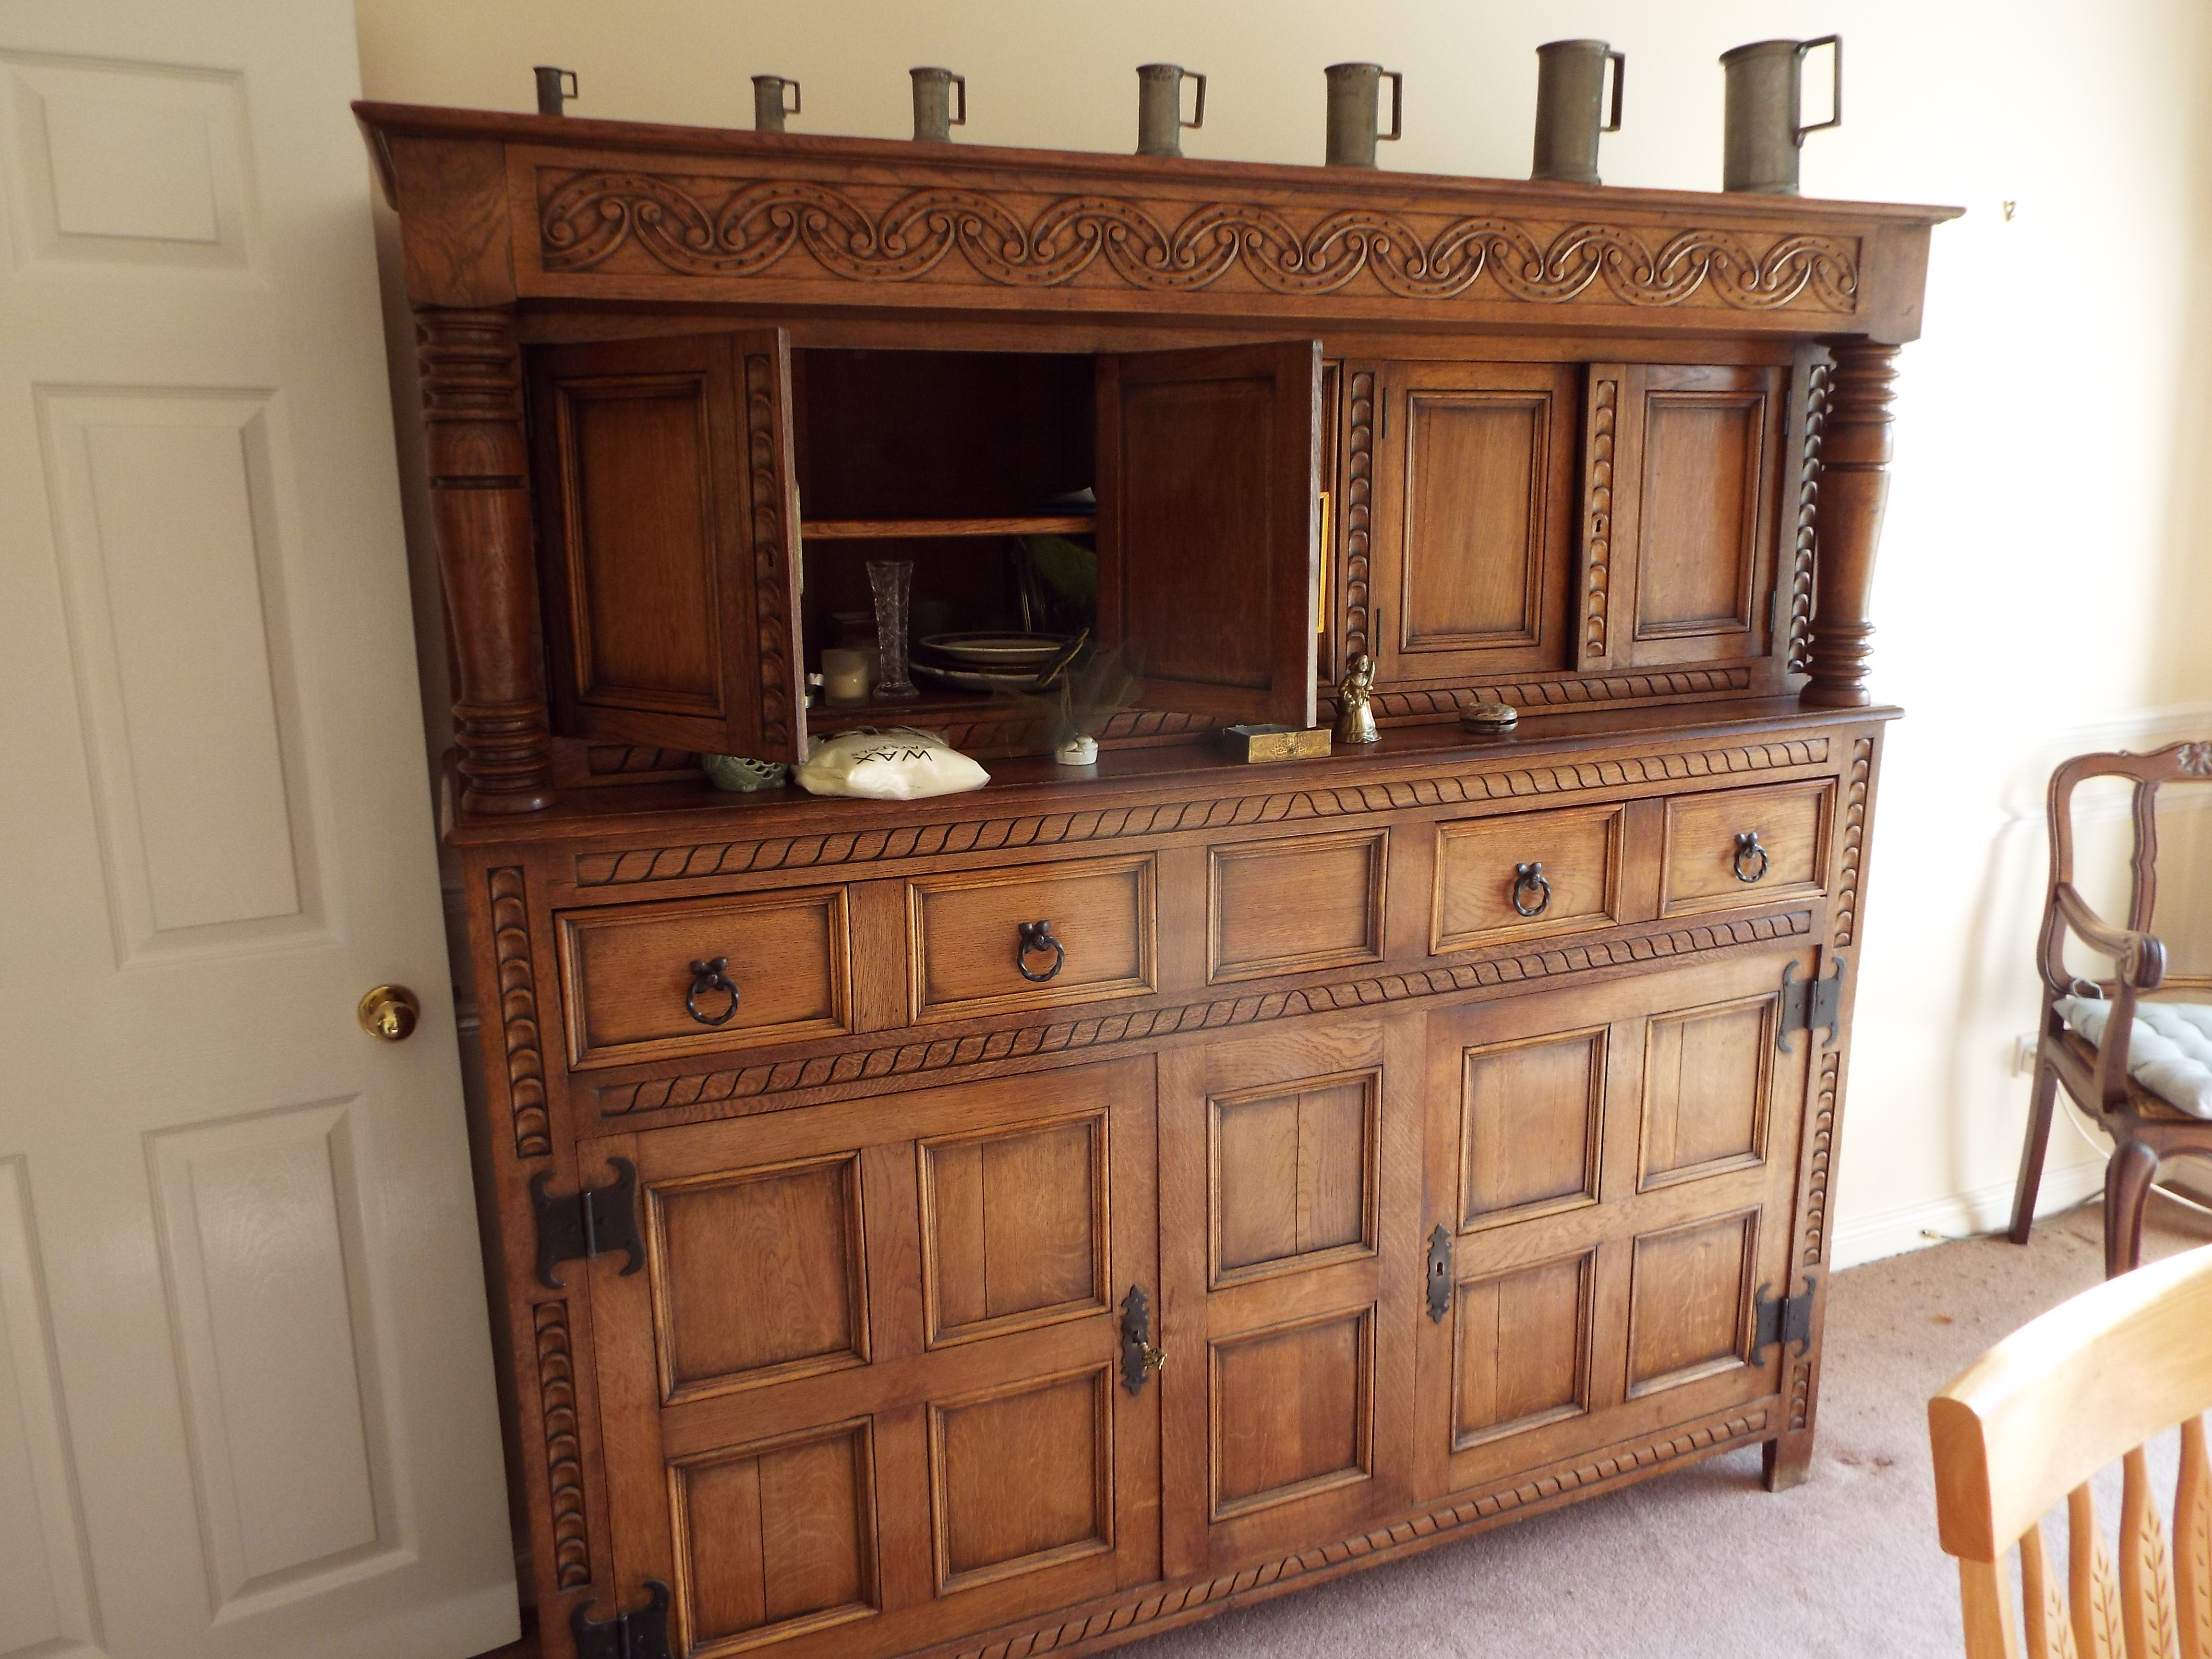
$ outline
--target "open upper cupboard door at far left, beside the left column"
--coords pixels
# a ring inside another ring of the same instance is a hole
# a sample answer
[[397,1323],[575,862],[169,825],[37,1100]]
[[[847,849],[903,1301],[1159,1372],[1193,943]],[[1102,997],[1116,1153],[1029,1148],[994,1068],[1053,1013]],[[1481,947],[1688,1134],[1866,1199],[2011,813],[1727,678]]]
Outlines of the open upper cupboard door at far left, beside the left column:
[[526,356],[553,730],[805,759],[783,330]]

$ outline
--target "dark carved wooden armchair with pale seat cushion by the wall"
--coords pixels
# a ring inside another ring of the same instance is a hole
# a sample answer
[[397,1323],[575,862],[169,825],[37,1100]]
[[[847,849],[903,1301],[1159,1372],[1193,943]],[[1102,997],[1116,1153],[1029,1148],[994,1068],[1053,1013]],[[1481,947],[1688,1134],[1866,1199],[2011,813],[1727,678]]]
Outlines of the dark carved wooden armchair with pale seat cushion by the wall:
[[[2075,889],[2073,792],[2086,779],[2132,781],[2135,849],[2128,858],[2128,925],[2115,927]],[[2212,1068],[2172,1057],[2166,1035],[2137,1035],[2143,998],[2166,995],[2154,1018],[2179,1033],[2179,1046],[2212,1040],[2212,980],[2166,971],[2166,945],[2150,931],[2159,898],[2159,787],[2212,781],[2212,741],[2170,743],[2152,754],[2077,754],[2051,774],[2051,885],[2035,967],[2044,980],[2042,1035],[2035,1046],[2035,1091],[2028,1097],[2028,1137],[2020,1148],[2020,1186],[2013,1192],[2013,1243],[2028,1241],[2035,1190],[2044,1177],[2051,1115],[2064,1084],[2075,1104],[2112,1137],[2104,1172],[2104,1270],[2121,1274],[2141,1261],[2143,1201],[2159,1164],[2179,1152],[2212,1155]],[[2088,982],[2066,967],[2066,938],[2079,938],[2112,958],[2112,978]],[[2194,1002],[2185,1000],[2192,998]],[[2108,1006],[2097,1009],[2097,1002]],[[2101,1035],[2101,1040],[2099,1040]],[[2143,1051],[2154,1048],[2148,1066]],[[2212,1046],[2203,1048],[2212,1055]],[[2150,1082],[2146,1082],[2146,1075]]]

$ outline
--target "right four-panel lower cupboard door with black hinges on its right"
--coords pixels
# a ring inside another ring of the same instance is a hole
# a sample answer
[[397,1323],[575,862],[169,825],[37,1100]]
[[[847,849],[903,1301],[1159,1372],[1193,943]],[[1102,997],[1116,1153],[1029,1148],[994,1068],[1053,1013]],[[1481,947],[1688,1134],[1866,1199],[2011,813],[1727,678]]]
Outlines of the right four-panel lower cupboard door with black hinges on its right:
[[1422,1498],[1761,1400],[1814,1037],[1761,953],[1429,1015]]

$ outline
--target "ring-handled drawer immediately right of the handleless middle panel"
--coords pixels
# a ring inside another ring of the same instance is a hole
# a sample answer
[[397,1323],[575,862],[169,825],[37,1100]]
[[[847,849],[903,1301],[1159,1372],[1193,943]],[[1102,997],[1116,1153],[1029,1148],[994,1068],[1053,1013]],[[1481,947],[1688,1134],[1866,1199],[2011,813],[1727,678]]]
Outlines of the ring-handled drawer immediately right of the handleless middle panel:
[[1429,949],[1462,951],[1617,922],[1626,812],[1615,803],[1440,823]]

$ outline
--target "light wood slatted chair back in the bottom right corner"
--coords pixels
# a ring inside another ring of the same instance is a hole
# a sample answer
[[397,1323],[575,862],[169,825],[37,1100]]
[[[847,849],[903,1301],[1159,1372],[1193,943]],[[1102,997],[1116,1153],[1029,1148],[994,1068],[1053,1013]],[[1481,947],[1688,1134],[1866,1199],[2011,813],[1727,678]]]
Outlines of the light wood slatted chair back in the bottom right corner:
[[[1969,1659],[2212,1659],[2212,1245],[2053,1307],[1929,1400],[1936,1517]],[[2172,1537],[2143,1442],[2181,1425]],[[2121,1462],[2119,1564],[2090,1478]],[[2068,1575],[2042,1517],[2066,1500]],[[2020,1548],[2020,1606],[2006,1553]]]

